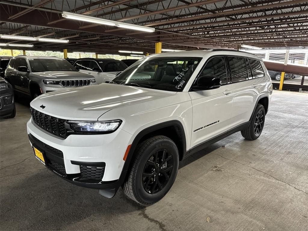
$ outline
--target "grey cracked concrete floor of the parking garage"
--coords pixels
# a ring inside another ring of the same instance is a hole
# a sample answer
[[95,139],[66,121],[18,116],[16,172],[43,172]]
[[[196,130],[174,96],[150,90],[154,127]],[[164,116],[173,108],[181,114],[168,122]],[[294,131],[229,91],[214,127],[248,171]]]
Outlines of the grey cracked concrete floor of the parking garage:
[[169,193],[148,207],[50,172],[27,138],[29,102],[16,108],[0,123],[1,230],[308,229],[308,94],[274,91],[259,139],[238,132],[183,160]]

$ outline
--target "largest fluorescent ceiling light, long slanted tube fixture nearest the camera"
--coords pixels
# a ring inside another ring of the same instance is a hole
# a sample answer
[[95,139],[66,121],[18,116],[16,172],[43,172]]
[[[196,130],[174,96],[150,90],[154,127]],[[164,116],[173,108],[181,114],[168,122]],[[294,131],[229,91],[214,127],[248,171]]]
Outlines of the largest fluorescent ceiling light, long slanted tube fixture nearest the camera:
[[96,17],[86,16],[82,14],[74,14],[70,12],[62,12],[62,17],[84,21],[84,22],[93,22],[93,23],[103,24],[107,26],[117,26],[117,27],[121,27],[125,29],[140,30],[144,32],[154,32],[155,31],[155,28],[148,27],[148,26],[139,26],[139,25],[134,25],[134,24],[125,23],[125,22],[118,22],[118,21],[113,21],[113,20],[104,19],[104,18],[96,18]]

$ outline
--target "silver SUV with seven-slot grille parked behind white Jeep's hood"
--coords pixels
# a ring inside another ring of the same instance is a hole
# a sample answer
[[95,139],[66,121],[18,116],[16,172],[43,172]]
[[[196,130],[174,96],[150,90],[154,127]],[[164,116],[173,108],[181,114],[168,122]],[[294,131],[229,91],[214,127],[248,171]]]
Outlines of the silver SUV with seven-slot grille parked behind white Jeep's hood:
[[50,91],[97,84],[92,75],[77,71],[67,60],[50,56],[15,56],[4,78],[15,93],[32,99]]

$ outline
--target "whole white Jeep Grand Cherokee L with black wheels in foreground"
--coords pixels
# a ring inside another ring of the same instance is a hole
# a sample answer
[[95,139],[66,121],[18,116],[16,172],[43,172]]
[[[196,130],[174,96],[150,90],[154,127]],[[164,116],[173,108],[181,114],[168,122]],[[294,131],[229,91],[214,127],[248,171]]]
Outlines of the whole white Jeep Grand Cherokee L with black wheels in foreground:
[[271,94],[255,55],[168,52],[140,59],[111,83],[37,97],[27,130],[36,158],[63,179],[106,197],[122,186],[152,204],[188,155],[234,132],[257,139]]

